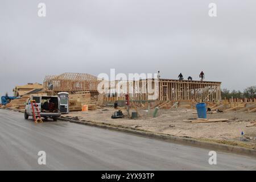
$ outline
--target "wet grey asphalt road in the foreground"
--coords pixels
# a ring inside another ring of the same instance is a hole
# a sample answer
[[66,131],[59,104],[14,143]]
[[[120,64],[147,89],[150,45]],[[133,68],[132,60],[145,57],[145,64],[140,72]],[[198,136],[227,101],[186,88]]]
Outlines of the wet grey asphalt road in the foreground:
[[256,158],[225,152],[209,165],[209,151],[0,109],[0,170],[256,170]]

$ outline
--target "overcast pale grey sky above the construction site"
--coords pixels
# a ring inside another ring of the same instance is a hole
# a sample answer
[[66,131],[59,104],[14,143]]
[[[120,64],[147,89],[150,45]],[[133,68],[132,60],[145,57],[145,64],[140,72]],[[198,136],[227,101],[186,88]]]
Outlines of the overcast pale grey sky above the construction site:
[[[38,17],[38,3],[46,17]],[[217,17],[208,15],[217,4]],[[0,93],[63,72],[256,85],[255,0],[1,0]]]

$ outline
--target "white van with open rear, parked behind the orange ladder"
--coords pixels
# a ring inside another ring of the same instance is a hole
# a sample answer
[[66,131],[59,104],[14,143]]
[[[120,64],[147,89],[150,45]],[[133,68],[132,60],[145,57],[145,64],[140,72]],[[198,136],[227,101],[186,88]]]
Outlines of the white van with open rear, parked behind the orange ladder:
[[26,103],[25,119],[28,119],[30,115],[33,117],[31,100],[35,100],[42,118],[52,118],[53,121],[57,121],[57,118],[60,117],[59,98],[57,96],[31,96]]

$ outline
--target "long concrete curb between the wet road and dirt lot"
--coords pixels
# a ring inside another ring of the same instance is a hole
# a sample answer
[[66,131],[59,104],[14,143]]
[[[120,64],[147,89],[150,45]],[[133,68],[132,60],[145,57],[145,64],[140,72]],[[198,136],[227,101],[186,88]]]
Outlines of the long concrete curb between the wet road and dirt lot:
[[142,137],[164,140],[167,142],[172,142],[172,143],[177,143],[177,144],[185,144],[185,145],[189,145],[189,146],[207,148],[210,150],[232,152],[235,154],[253,156],[256,158],[256,150],[244,148],[244,147],[231,146],[228,144],[221,144],[221,143],[205,142],[205,141],[196,140],[196,139],[192,139],[192,138],[175,137],[175,136],[167,135],[167,134],[152,133],[152,132],[146,131],[146,130],[134,129],[133,127],[124,127],[121,125],[111,125],[111,124],[104,123],[104,122],[95,123],[93,121],[76,121],[73,119],[66,119],[66,118],[59,118],[59,120],[69,121],[72,123],[78,123],[81,125],[101,127],[104,129],[110,129],[110,130],[115,130],[115,131],[122,131],[125,133],[140,135]]

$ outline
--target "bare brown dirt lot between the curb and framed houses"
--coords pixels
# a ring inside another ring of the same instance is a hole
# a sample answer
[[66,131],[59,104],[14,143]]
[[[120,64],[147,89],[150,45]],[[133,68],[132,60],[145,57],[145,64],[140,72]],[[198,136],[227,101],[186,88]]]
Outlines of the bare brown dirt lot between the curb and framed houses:
[[[139,110],[138,119],[112,119],[111,115],[116,111],[106,107],[88,111],[87,113],[72,112],[63,115],[65,118],[77,117],[80,121],[104,122],[113,125],[136,127],[138,129],[152,131],[155,133],[170,134],[179,137],[192,137],[200,140],[232,144],[256,149],[256,126],[250,122],[256,121],[256,113],[245,113],[229,111],[227,113],[208,114],[208,118],[226,118],[228,122],[216,123],[191,123],[183,119],[197,118],[196,110],[192,109],[172,109],[159,110],[158,117],[152,118],[152,110]],[[125,110],[123,114],[127,115]],[[241,133],[245,133],[242,137]]]

